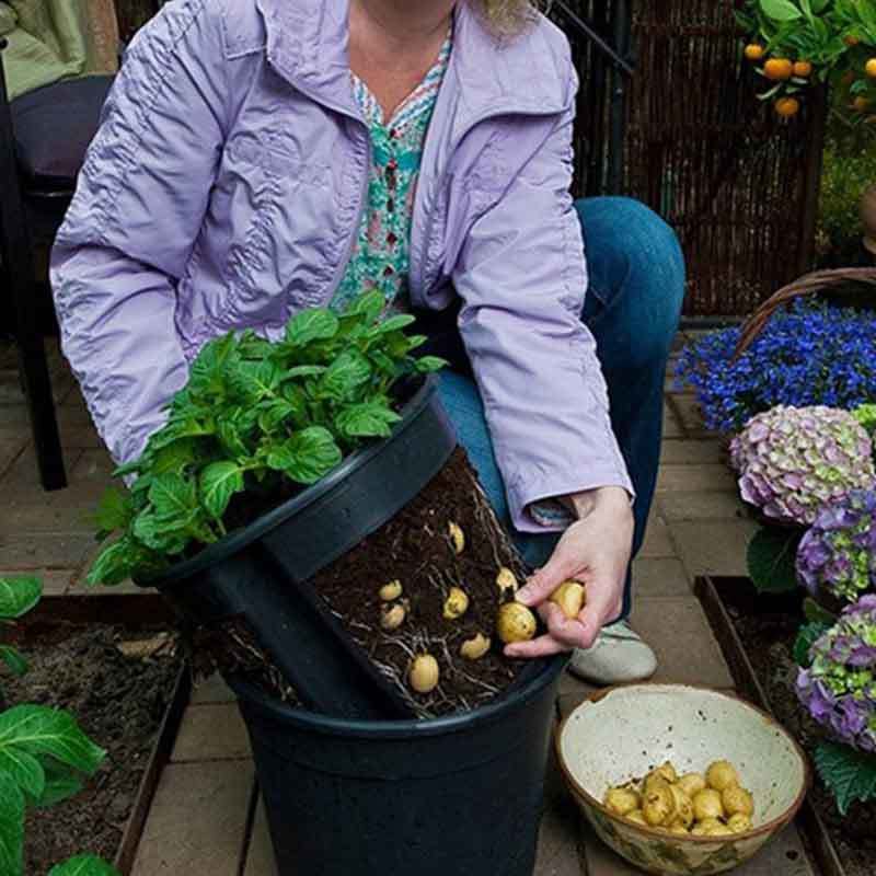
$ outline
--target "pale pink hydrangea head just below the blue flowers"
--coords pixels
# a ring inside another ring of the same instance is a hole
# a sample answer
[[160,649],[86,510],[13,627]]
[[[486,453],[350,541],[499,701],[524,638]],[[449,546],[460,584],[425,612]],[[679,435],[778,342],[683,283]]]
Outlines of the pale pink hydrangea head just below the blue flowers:
[[730,443],[742,498],[766,517],[807,527],[853,489],[876,486],[872,452],[852,414],[820,406],[758,414]]

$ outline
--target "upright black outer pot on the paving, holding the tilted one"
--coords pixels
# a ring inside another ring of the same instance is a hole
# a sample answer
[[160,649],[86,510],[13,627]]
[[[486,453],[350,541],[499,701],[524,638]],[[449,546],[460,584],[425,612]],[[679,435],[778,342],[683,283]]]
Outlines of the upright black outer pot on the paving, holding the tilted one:
[[424,722],[331,718],[231,679],[279,876],[531,876],[565,664]]

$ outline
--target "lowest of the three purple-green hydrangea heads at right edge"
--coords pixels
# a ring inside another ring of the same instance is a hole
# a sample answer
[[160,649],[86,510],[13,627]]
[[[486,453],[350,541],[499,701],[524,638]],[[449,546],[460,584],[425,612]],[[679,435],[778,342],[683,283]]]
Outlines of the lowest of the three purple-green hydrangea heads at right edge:
[[849,606],[809,649],[797,696],[839,742],[876,752],[876,596]]

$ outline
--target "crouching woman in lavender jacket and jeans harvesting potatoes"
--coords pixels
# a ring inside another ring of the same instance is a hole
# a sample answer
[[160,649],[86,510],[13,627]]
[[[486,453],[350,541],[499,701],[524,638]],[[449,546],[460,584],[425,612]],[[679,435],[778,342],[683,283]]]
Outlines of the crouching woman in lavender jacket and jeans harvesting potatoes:
[[[656,666],[624,623],[601,631],[629,611],[683,272],[645,208],[573,204],[576,88],[525,0],[175,0],[128,50],[51,272],[119,462],[217,334],[275,336],[367,287],[458,307],[476,383],[448,373],[442,397],[541,566],[520,599],[549,632],[509,654],[577,648],[613,682]],[[574,621],[546,601],[568,577],[588,586]]]

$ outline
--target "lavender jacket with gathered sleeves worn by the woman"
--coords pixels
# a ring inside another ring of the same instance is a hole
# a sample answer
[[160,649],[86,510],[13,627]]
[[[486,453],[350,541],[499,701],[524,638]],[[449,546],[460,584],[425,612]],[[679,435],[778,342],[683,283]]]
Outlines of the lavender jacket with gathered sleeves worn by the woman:
[[[349,0],[174,0],[131,43],[57,238],[64,351],[118,462],[211,337],[325,306],[358,229],[369,136]],[[632,492],[611,430],[569,195],[577,79],[546,19],[499,45],[460,0],[411,241],[415,307],[460,330],[515,525],[530,503]]]

